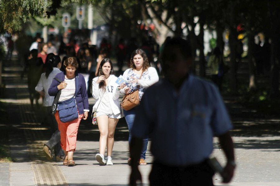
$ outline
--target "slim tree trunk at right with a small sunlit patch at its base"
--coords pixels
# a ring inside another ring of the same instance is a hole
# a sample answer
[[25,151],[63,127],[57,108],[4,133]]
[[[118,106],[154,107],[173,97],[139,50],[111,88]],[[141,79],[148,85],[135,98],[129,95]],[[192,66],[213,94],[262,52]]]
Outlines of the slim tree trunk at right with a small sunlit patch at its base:
[[249,63],[249,90],[255,90],[256,87],[256,70],[253,62],[253,50],[254,50],[254,35],[252,33],[248,34],[248,63]]

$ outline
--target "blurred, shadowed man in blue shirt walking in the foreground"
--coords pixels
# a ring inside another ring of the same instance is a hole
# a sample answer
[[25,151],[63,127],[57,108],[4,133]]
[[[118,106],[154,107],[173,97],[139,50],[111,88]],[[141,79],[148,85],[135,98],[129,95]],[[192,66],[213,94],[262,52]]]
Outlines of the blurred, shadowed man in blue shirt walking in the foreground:
[[191,48],[181,38],[166,42],[161,53],[165,78],[143,95],[133,124],[130,185],[141,180],[138,170],[142,138],[150,134],[154,156],[151,185],[213,185],[208,158],[217,136],[226,155],[223,182],[233,177],[232,129],[222,97],[212,83],[191,74]]

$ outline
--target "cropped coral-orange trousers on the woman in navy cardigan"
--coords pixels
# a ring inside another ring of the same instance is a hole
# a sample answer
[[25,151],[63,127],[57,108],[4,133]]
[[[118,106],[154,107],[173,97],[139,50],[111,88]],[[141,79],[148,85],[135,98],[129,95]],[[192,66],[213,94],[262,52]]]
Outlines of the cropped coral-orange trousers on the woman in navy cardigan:
[[70,122],[61,122],[58,111],[54,114],[60,131],[60,145],[66,152],[76,149],[77,133],[83,114],[79,114],[77,119]]

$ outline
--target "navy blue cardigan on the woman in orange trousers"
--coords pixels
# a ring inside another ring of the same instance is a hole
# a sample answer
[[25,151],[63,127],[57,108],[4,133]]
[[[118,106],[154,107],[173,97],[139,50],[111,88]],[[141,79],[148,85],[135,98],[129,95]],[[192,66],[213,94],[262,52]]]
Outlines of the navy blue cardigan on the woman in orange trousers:
[[[77,74],[75,74],[77,76]],[[61,81],[64,81],[65,73],[61,72],[56,74],[55,78],[58,78]],[[55,96],[58,93],[57,86],[60,84],[60,82],[53,80],[52,84],[49,87],[49,95]],[[75,82],[76,84],[76,82]],[[76,102],[79,114],[83,114],[84,111],[89,111],[89,105],[88,105],[88,96],[86,91],[86,81],[82,74],[78,73],[78,85],[76,84],[76,87],[78,86],[77,95],[76,95]]]

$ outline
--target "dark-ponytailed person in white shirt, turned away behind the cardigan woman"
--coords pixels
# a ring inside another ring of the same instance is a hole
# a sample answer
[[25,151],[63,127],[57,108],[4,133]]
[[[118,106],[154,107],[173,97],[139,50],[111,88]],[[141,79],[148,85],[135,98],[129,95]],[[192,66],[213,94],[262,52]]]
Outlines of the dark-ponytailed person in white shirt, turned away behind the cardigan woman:
[[60,73],[61,61],[58,55],[53,56],[46,63],[46,72],[42,73],[41,78],[35,87],[35,90],[40,93],[44,98],[43,108],[45,115],[45,122],[50,126],[53,133],[52,137],[47,143],[44,144],[43,151],[49,161],[52,160],[52,150],[54,149],[54,155],[56,161],[63,161],[65,155],[60,146],[60,131],[58,130],[57,122],[54,115],[51,114],[51,107],[54,101],[54,96],[48,94],[49,86],[51,85],[56,74]]

